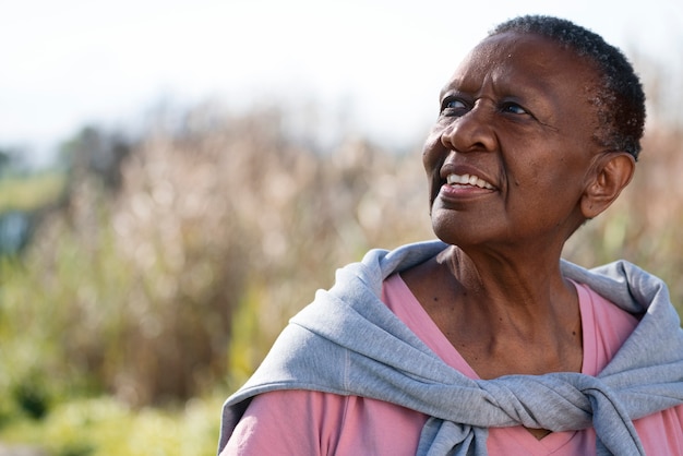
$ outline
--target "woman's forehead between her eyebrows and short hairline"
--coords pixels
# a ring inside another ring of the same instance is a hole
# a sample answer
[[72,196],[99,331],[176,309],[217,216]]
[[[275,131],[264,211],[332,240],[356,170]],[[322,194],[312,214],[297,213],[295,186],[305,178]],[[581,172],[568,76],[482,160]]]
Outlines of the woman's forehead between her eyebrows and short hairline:
[[599,73],[573,49],[536,34],[507,32],[486,38],[463,60],[450,86],[477,89],[489,82],[508,91],[565,89],[590,93]]

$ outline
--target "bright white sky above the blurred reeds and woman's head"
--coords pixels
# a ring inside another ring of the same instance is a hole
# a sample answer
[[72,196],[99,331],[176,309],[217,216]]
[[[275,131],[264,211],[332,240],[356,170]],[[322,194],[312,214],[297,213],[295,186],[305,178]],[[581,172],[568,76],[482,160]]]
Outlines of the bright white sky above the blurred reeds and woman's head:
[[520,14],[683,61],[680,0],[0,0],[0,147],[47,163],[85,124],[134,130],[163,100],[208,99],[312,100],[375,141],[416,142],[459,60]]

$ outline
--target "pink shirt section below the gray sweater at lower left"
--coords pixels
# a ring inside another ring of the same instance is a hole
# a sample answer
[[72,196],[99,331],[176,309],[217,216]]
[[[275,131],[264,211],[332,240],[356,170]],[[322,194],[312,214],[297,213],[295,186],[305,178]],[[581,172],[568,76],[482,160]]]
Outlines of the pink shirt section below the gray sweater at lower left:
[[254,397],[221,456],[269,454],[273,442],[281,454],[415,454],[426,420],[422,413],[359,396],[269,392]]

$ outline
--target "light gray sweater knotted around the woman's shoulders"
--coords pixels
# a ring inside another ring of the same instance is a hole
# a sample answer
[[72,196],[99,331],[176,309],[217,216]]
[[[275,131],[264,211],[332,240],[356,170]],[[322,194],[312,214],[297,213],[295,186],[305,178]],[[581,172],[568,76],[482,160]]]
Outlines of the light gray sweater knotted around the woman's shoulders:
[[606,369],[471,380],[444,363],[380,300],[382,283],[447,245],[370,251],[291,319],[254,375],[224,406],[219,451],[249,399],[274,389],[372,397],[429,415],[418,455],[486,455],[488,428],[594,427],[600,455],[644,454],[632,420],[683,404],[683,332],[666,285],[618,262],[563,274],[643,317]]

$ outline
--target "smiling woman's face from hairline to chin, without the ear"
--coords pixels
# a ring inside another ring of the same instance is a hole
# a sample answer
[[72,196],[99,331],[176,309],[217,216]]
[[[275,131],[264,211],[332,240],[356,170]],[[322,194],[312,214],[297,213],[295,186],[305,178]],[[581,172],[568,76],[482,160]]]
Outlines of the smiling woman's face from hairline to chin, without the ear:
[[444,87],[424,145],[436,236],[561,248],[585,218],[597,81],[585,59],[538,35],[479,44]]

